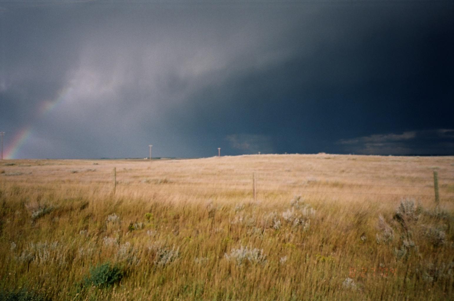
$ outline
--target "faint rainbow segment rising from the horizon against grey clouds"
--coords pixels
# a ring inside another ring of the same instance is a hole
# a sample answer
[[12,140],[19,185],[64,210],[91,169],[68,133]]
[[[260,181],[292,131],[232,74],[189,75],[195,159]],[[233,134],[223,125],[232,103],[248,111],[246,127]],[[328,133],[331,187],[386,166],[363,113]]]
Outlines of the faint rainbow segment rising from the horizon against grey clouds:
[[[54,100],[45,100],[41,104],[39,104],[36,112],[38,114],[38,118],[43,118],[44,115],[47,113],[51,112],[55,107],[62,103],[64,99],[70,94],[72,91],[71,87],[69,88],[64,88],[59,90],[57,93],[57,97]],[[28,141],[30,136],[33,133],[33,126],[31,124],[25,125],[23,128],[20,128],[19,131],[17,131],[14,136],[12,141],[6,143],[4,140],[4,143],[9,145],[5,149],[5,158],[6,159],[16,159],[17,154],[20,151],[20,148],[25,145],[25,143]]]

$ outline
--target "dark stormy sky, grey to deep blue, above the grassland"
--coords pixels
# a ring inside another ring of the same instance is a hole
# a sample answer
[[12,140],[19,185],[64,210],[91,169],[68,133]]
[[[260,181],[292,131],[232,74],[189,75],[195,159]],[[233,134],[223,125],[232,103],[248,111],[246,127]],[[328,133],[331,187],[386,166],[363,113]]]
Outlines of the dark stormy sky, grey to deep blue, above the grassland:
[[454,1],[1,1],[5,158],[454,154]]

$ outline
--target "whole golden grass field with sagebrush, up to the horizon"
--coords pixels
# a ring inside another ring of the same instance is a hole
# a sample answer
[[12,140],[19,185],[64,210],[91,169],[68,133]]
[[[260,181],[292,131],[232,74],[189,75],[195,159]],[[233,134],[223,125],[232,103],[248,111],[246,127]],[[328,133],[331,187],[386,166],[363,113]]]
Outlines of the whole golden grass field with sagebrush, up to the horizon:
[[0,203],[0,300],[454,300],[453,157],[4,160]]

